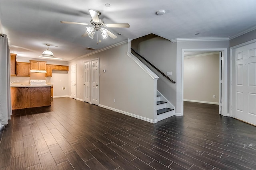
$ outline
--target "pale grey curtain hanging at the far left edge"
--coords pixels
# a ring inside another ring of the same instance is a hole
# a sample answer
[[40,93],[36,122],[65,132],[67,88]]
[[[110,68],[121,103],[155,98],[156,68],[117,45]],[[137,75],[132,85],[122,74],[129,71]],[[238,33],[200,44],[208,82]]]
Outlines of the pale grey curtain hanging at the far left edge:
[[11,119],[10,51],[7,35],[0,34],[0,125]]

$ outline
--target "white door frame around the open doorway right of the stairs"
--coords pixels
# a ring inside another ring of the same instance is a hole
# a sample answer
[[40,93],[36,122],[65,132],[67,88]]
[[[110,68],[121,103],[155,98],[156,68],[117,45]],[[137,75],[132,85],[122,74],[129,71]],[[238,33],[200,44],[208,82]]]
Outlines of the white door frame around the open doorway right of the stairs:
[[227,49],[182,49],[181,76],[181,115],[184,115],[184,53],[185,52],[220,52],[220,109],[219,113],[227,114]]

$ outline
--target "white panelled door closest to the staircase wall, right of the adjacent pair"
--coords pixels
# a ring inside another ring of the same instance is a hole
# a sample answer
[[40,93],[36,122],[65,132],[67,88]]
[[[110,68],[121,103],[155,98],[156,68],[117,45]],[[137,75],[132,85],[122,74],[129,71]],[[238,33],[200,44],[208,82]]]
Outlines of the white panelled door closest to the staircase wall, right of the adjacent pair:
[[99,59],[92,61],[92,104],[99,105]]

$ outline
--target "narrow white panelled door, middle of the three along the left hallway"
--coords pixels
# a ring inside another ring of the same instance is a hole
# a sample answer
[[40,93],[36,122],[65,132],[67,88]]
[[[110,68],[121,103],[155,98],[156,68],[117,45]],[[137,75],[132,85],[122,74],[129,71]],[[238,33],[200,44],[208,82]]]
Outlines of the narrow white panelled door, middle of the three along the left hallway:
[[90,61],[84,63],[84,102],[90,103]]

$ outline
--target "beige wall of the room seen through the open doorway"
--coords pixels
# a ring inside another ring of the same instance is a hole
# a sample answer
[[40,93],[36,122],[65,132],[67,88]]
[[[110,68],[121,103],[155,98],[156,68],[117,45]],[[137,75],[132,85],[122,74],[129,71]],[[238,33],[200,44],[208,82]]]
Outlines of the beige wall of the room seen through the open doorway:
[[184,58],[184,100],[219,103],[219,61],[218,52]]

